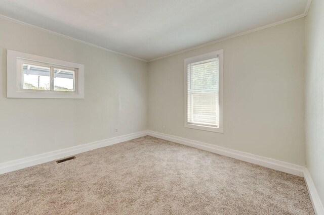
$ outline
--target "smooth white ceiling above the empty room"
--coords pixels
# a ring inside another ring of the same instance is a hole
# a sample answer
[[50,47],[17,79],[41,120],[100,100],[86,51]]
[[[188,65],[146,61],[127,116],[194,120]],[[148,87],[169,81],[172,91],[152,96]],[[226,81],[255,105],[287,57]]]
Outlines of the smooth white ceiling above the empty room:
[[144,60],[304,15],[308,0],[0,0],[0,14]]

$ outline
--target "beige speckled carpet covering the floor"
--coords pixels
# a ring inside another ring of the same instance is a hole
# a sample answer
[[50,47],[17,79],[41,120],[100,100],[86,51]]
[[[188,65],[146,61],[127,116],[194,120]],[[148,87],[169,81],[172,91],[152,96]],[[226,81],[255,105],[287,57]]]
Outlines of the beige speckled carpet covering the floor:
[[314,214],[304,179],[154,137],[0,175],[0,214]]

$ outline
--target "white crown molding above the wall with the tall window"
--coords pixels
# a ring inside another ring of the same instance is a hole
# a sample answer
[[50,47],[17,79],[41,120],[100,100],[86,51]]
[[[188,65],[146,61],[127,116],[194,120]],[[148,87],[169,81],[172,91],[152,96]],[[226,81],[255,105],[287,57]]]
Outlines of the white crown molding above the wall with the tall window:
[[[309,1],[311,1],[311,0],[309,0]],[[308,12],[308,10],[306,10],[306,11]],[[225,40],[229,40],[229,39],[232,39],[232,38],[235,38],[235,37],[243,36],[243,35],[250,34],[250,33],[256,32],[256,31],[260,31],[260,30],[263,30],[263,29],[266,29],[266,28],[270,28],[270,27],[273,27],[273,26],[276,26],[276,25],[284,24],[286,22],[290,22],[290,21],[293,21],[293,20],[296,20],[296,19],[300,19],[302,17],[305,17],[306,15],[307,14],[304,13],[304,14],[301,14],[301,15],[298,15],[298,16],[295,16],[295,17],[292,17],[292,18],[288,18],[288,19],[285,19],[285,20],[281,20],[281,21],[278,21],[278,22],[275,22],[275,23],[265,25],[265,26],[261,26],[261,27],[258,27],[258,28],[255,28],[255,29],[252,29],[252,30],[249,30],[249,31],[241,32],[241,33],[238,33],[238,34],[234,34],[232,36],[228,36],[228,37],[224,37],[224,38],[221,38],[221,39],[214,40],[214,41],[209,42],[209,43],[205,43],[205,44],[202,44],[202,45],[194,46],[192,48],[184,49],[182,51],[171,53],[170,55],[154,58],[152,60],[148,60],[148,62],[153,62],[153,61],[157,61],[157,60],[160,60],[160,59],[172,57],[172,56],[175,56],[175,55],[180,55],[181,53],[185,53],[185,52],[188,52],[188,51],[191,51],[191,50],[195,50],[195,49],[202,48],[202,47],[205,47],[205,46],[208,46],[208,45],[223,42]]]

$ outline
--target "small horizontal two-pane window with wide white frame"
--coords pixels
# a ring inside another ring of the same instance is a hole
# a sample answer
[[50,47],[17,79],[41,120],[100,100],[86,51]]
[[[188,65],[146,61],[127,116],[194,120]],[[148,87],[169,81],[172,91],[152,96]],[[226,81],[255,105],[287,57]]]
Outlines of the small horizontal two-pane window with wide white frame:
[[7,97],[84,98],[84,66],[8,50]]

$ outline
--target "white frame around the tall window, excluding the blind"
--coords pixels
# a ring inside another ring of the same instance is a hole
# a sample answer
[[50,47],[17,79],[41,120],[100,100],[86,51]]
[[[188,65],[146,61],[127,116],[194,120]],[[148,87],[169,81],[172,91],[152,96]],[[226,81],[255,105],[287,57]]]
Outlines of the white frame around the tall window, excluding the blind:
[[[218,77],[218,99],[219,99],[219,125],[218,127],[212,127],[212,126],[204,126],[204,125],[195,125],[188,123],[188,64],[199,62],[199,61],[206,61],[213,58],[219,58],[219,77]],[[223,133],[224,127],[223,127],[223,69],[224,69],[224,50],[217,50],[210,53],[206,53],[204,55],[195,56],[192,58],[186,58],[184,60],[184,127],[185,128],[191,128],[191,129],[199,129],[199,130],[205,130],[205,131],[212,131],[212,132],[218,132]]]

